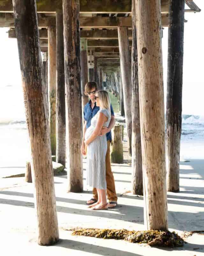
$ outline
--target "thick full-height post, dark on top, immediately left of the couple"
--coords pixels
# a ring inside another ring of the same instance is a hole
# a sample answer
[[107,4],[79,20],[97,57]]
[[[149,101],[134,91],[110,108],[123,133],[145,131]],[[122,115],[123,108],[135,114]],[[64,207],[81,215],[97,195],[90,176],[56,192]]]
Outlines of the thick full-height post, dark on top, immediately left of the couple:
[[68,191],[83,191],[79,0],[63,0]]

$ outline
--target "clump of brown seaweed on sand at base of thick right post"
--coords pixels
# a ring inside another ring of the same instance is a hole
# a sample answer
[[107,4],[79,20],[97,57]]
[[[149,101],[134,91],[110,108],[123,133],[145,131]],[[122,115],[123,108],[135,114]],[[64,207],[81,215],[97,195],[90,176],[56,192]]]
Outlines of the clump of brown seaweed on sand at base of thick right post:
[[129,231],[126,229],[73,228],[73,236],[91,236],[104,239],[145,243],[150,246],[180,247],[185,241],[175,232],[162,230]]

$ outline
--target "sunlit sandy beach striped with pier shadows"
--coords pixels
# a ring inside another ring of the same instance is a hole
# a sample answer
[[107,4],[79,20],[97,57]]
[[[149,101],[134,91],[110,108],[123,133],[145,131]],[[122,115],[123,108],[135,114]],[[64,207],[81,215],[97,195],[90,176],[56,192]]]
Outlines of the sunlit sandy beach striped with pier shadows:
[[[90,237],[71,236],[69,229],[125,228],[144,230],[143,196],[132,195],[131,165],[128,156],[127,137],[123,142],[124,164],[112,164],[115,178],[118,207],[108,211],[93,212],[87,209],[86,200],[91,190],[86,186],[86,159],[84,159],[84,193],[66,193],[67,176],[55,177],[55,194],[60,229],[60,243],[52,247],[37,245],[36,218],[33,201],[33,184],[26,183],[24,177],[3,178],[25,172],[25,162],[29,159],[26,130],[1,132],[0,161],[0,220],[3,251],[9,255],[60,253],[74,255],[76,250],[82,255],[201,255],[204,252],[203,236],[190,236],[182,248],[161,249],[147,245],[130,244],[125,241],[104,240]],[[13,137],[12,137],[13,136]],[[12,143],[13,141],[13,143]],[[181,145],[181,148],[185,145]],[[186,152],[195,147],[189,145]],[[187,150],[188,149],[188,150]],[[185,152],[185,151],[183,151]],[[198,152],[199,153],[199,152]],[[185,156],[183,154],[183,156]],[[204,159],[183,158],[180,162],[180,193],[168,192],[169,229],[180,234],[183,231],[203,230],[204,227]],[[11,245],[12,241],[12,246]],[[47,248],[47,249],[46,249]],[[52,248],[52,249],[51,249]],[[179,254],[178,254],[179,252]]]

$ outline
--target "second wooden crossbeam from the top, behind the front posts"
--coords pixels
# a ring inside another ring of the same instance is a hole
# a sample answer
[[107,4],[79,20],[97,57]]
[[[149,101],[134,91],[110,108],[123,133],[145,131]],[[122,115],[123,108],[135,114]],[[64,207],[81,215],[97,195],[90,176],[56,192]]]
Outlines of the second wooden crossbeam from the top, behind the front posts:
[[[80,28],[117,28],[117,27],[132,27],[131,17],[80,17]],[[38,14],[38,27],[47,28],[55,26],[55,17],[42,17]],[[162,26],[168,26],[168,17],[162,14]],[[0,28],[14,28],[14,17],[12,13],[0,14]]]

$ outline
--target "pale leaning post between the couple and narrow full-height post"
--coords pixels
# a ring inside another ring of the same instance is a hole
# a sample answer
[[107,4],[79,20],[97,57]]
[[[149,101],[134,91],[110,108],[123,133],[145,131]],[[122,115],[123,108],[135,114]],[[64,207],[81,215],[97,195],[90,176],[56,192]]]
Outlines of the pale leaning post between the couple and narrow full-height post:
[[120,49],[120,67],[122,75],[122,86],[124,95],[125,120],[128,130],[128,151],[132,155],[132,113],[131,113],[131,62],[128,45],[128,29],[127,27],[118,27],[118,42]]

